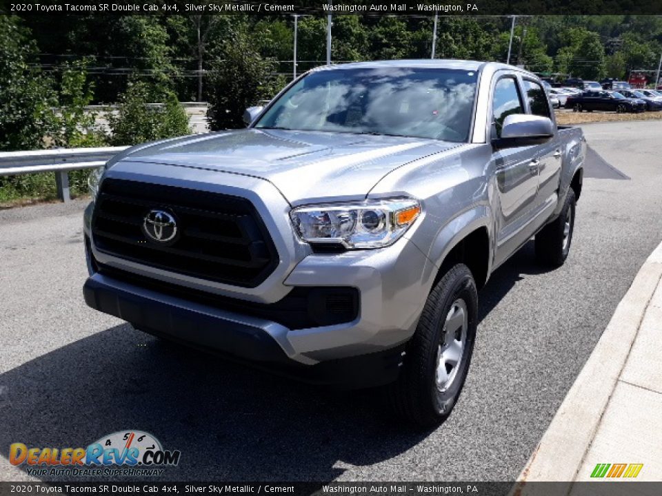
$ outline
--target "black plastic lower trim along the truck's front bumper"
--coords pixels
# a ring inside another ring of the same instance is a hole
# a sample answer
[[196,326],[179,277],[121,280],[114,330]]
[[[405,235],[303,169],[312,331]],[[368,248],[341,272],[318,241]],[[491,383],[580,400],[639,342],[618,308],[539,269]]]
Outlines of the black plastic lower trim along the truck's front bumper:
[[360,388],[388,384],[397,379],[404,344],[338,360],[305,365],[292,360],[279,344],[260,327],[224,318],[209,307],[200,311],[176,302],[148,298],[128,289],[119,289],[112,280],[97,273],[86,280],[83,295],[88,306],[128,320],[132,325],[189,347],[223,355],[271,372],[313,384]]

